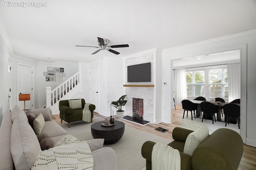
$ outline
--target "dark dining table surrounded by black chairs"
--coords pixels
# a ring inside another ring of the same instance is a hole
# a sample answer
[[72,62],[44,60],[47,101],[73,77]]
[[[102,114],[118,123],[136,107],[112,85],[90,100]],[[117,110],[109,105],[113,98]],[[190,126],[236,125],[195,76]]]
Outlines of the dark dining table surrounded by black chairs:
[[[205,102],[205,101],[202,101],[202,100],[189,100],[191,102],[193,102],[194,104],[197,104],[197,109],[196,109],[196,117],[200,117],[201,116],[201,106],[200,104],[202,102]],[[210,102],[210,101],[207,101],[207,102]],[[219,106],[218,107],[218,112],[217,112],[217,118],[216,120],[217,121],[220,121],[221,120],[221,109],[222,107],[225,105],[225,104],[228,104],[227,102],[214,102],[213,104],[215,104],[216,106]],[[237,104],[240,106],[240,104]],[[211,119],[211,118],[210,118]],[[224,119],[225,120],[225,119]],[[230,118],[230,123],[234,123],[236,124],[236,119],[233,119],[233,118]]]

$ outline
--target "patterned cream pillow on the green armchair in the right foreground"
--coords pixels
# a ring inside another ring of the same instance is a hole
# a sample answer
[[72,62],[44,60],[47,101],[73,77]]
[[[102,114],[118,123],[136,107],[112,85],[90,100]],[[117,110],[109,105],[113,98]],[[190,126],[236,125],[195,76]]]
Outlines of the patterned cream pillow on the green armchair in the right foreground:
[[202,126],[194,132],[191,132],[185,142],[184,154],[192,156],[194,150],[209,136],[209,129],[207,126]]

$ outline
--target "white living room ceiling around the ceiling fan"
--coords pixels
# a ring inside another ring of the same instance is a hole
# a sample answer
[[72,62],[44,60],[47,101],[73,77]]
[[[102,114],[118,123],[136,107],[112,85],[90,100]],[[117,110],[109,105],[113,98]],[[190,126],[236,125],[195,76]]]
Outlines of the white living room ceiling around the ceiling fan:
[[[47,62],[120,58],[256,28],[256,0],[34,0],[47,2],[40,8],[5,2],[0,19],[14,55]],[[75,46],[98,46],[97,37],[130,47],[91,55],[97,48]]]

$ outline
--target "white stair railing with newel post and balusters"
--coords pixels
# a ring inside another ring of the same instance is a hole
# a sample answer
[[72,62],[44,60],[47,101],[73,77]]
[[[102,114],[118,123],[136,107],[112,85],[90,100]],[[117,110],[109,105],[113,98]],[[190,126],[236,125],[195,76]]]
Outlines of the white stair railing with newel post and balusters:
[[80,83],[79,72],[52,90],[46,87],[46,108],[58,103],[65,95],[70,93]]

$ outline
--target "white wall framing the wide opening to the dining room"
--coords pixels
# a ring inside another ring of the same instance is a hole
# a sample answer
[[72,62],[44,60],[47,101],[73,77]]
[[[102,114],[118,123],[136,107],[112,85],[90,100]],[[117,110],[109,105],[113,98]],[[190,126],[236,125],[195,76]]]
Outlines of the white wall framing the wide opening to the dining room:
[[[256,146],[256,29],[247,32],[216,38],[204,42],[198,42],[187,46],[163,50],[162,58],[162,79],[167,86],[162,88],[162,121],[172,122],[172,60],[189,56],[211,54],[229,50],[241,50],[241,131],[240,134],[244,143]],[[246,61],[247,58],[247,61]],[[247,70],[245,70],[247,68]],[[247,89],[246,89],[247,88]],[[247,90],[247,91],[246,91]],[[171,105],[170,105],[171,103]]]

